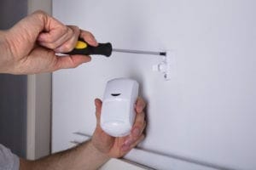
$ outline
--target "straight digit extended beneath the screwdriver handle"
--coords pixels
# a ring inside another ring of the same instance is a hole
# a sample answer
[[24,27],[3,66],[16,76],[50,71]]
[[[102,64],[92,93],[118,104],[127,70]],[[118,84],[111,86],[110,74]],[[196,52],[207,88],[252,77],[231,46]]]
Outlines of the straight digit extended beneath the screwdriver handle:
[[83,63],[89,62],[90,56],[84,55],[67,55],[57,56],[57,60],[54,65],[54,71],[67,68],[75,68]]

